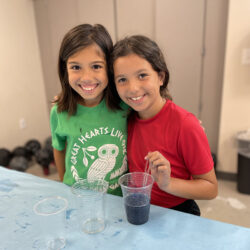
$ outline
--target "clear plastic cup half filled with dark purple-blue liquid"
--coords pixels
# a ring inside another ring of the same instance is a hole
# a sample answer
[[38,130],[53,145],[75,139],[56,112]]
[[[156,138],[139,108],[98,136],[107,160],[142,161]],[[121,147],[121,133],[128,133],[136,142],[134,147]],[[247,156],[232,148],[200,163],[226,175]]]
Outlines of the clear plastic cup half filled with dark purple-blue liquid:
[[133,172],[120,177],[119,184],[129,223],[142,225],[148,221],[153,182],[153,176],[145,172]]

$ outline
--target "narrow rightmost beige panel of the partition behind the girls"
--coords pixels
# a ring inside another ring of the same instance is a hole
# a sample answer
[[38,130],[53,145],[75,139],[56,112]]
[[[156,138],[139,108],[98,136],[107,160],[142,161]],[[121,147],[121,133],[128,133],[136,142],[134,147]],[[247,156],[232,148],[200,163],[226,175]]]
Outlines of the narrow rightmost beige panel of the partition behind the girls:
[[212,152],[218,152],[228,0],[207,0],[205,57],[200,91],[200,119]]

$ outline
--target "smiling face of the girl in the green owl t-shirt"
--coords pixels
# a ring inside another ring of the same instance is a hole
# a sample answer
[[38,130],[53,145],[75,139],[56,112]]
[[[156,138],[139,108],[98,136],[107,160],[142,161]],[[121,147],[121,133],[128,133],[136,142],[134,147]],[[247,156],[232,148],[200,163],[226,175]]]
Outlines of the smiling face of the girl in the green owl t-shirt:
[[107,65],[102,50],[90,45],[67,60],[70,86],[83,98],[80,104],[93,107],[100,103],[108,85]]

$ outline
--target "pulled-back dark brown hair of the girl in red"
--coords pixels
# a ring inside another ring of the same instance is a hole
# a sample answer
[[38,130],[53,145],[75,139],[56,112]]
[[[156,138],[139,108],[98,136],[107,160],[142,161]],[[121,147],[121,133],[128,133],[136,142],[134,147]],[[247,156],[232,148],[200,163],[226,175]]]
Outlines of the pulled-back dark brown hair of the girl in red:
[[[163,85],[160,87],[160,94],[163,98],[172,100],[172,97],[168,91],[169,71],[163,53],[158,47],[158,45],[150,38],[142,35],[130,36],[118,41],[115,44],[111,54],[112,74],[113,64],[115,60],[117,60],[119,57],[127,56],[129,54],[136,54],[141,58],[144,58],[151,64],[152,68],[156,72],[165,73]],[[111,98],[111,95],[118,95],[114,81],[108,86],[107,90],[107,95],[109,99]]]

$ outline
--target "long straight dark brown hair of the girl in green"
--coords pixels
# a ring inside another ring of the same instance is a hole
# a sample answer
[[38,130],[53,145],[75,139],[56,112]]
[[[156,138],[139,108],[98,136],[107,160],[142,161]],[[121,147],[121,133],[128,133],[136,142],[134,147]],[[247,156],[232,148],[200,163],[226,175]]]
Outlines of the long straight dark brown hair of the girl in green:
[[[72,28],[64,36],[59,50],[58,74],[62,90],[54,103],[58,105],[58,112],[67,111],[69,115],[76,112],[77,102],[82,98],[75,90],[71,88],[68,81],[67,60],[70,56],[92,44],[96,44],[102,50],[106,63],[109,83],[113,81],[108,65],[110,64],[110,53],[113,48],[112,39],[108,31],[101,24],[81,24]],[[106,96],[106,90],[104,96]],[[108,102],[107,102],[108,103]],[[111,109],[118,107],[113,101],[108,103]]]

